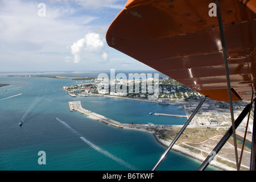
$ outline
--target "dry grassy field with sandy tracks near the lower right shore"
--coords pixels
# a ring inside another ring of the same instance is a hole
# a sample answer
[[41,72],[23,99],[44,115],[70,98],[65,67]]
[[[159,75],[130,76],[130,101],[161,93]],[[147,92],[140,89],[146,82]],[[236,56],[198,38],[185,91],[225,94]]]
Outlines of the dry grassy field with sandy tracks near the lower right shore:
[[[189,151],[204,156],[210,154],[216,144],[220,141],[223,135],[228,129],[216,128],[216,127],[193,127],[185,129],[184,133],[181,134],[180,138],[175,144],[189,149]],[[156,129],[155,134],[160,135],[161,139],[173,140],[177,133],[179,133],[180,127],[171,127],[169,129]],[[238,160],[240,159],[242,142],[237,140],[238,146]],[[234,140],[230,137],[228,142],[218,152],[216,159],[217,162],[225,164],[226,166],[236,168],[236,155],[234,152]],[[242,165],[249,166],[250,164],[250,148],[245,147],[243,151]],[[248,170],[246,167],[241,167],[241,170]]]

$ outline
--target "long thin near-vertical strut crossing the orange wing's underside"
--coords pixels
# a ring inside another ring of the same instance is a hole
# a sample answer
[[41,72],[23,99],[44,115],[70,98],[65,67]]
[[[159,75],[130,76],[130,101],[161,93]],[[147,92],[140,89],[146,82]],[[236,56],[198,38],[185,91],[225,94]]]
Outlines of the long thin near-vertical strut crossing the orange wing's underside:
[[217,5],[217,13],[218,13],[218,24],[219,24],[220,35],[221,35],[222,52],[224,56],[225,69],[226,69],[226,80],[228,84],[228,95],[229,95],[229,107],[230,107],[230,115],[232,120],[232,130],[233,130],[233,138],[234,138],[234,150],[236,154],[236,164],[237,164],[237,170],[238,170],[237,137],[236,137],[236,129],[234,127],[234,112],[233,112],[233,103],[232,103],[232,91],[231,91],[230,78],[229,78],[228,56],[226,53],[226,42],[225,42],[224,29],[222,24],[220,4],[218,3],[218,0],[216,0],[216,5]]

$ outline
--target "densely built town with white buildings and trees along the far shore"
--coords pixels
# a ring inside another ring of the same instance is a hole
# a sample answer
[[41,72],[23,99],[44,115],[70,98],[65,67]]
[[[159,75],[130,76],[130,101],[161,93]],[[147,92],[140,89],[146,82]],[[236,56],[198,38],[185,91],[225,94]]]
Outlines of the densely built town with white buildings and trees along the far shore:
[[154,94],[157,89],[158,98],[162,99],[188,100],[202,97],[200,93],[171,78],[160,77],[157,84],[158,88],[155,88],[154,81],[154,78],[131,80],[95,78],[95,80],[90,80],[90,84],[64,86],[63,90],[72,94],[108,94],[111,96],[148,98],[148,95]]

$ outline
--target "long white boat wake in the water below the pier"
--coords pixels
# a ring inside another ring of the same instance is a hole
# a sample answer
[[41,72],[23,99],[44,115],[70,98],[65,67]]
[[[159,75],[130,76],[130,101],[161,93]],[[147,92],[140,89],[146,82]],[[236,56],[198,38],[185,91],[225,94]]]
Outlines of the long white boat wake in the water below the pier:
[[57,121],[59,121],[61,124],[63,124],[65,127],[67,127],[67,129],[69,129],[70,131],[72,131],[73,134],[76,134],[82,141],[84,141],[86,144],[88,144],[90,147],[92,147],[94,150],[100,152],[101,154],[104,154],[105,156],[107,156],[110,159],[115,160],[115,162],[118,162],[119,164],[121,164],[122,166],[125,166],[131,170],[138,170],[135,166],[125,162],[123,159],[118,158],[117,156],[111,154],[110,152],[102,149],[101,147],[97,146],[96,144],[94,144],[93,142],[90,142],[90,140],[86,139],[85,137],[82,136],[82,134],[80,134],[78,131],[76,131],[75,129],[73,129],[71,126],[69,126],[67,123],[65,123],[64,121],[61,121],[59,118],[55,118]]

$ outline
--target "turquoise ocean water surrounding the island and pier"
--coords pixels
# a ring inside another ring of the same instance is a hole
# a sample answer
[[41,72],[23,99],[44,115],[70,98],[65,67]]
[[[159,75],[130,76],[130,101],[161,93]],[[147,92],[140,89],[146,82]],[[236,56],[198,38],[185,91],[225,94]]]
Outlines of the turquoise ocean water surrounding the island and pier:
[[[68,74],[64,76],[81,76],[81,73]],[[154,167],[166,150],[152,134],[118,129],[79,112],[69,111],[69,101],[79,100],[85,109],[123,123],[183,125],[186,121],[185,118],[155,117],[148,114],[157,112],[184,115],[184,111],[177,110],[177,106],[108,97],[73,98],[62,90],[63,86],[80,84],[71,79],[2,74],[0,83],[10,84],[0,88],[2,171],[147,171]],[[21,127],[18,125],[20,119],[24,121]],[[46,152],[46,164],[39,165],[39,151]],[[195,159],[171,151],[158,170],[194,171],[200,164]],[[213,167],[209,169],[215,170]]]

